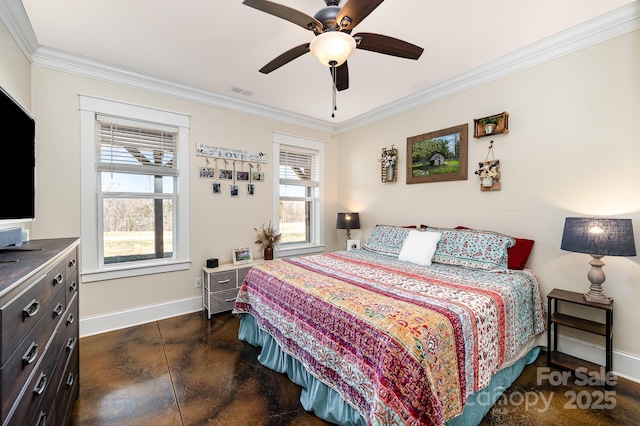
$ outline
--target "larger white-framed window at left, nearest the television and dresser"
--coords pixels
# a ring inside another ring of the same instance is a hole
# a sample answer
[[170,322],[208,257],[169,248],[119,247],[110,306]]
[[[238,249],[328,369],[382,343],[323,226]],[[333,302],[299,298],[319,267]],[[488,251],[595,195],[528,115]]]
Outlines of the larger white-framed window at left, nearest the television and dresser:
[[84,281],[189,267],[187,126],[81,96]]

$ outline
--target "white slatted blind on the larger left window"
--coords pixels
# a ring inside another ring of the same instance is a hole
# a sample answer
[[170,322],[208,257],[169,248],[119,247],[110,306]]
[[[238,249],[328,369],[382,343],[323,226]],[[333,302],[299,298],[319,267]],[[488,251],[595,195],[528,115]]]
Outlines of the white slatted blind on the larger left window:
[[99,117],[97,168],[102,172],[178,176],[178,133],[122,124]]

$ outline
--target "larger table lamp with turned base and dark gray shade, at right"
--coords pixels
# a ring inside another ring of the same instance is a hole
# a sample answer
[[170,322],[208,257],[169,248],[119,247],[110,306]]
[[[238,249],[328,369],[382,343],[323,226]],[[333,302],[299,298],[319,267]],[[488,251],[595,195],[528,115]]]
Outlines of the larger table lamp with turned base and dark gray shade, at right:
[[591,269],[587,274],[591,286],[584,298],[588,302],[610,305],[611,298],[602,292],[605,280],[602,257],[636,255],[631,219],[568,217],[560,248],[591,255]]

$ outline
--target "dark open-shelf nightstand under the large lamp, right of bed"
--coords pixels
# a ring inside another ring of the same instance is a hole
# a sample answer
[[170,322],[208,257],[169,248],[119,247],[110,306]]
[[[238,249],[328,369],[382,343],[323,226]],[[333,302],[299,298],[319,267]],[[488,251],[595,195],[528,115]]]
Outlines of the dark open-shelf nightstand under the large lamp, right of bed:
[[[585,367],[588,374],[597,378],[603,384],[606,384],[606,378],[611,376],[611,363],[613,360],[613,300],[610,305],[601,303],[587,302],[584,294],[573,291],[554,289],[547,295],[548,311],[547,324],[549,330],[547,332],[547,365],[559,367],[561,369],[575,371],[578,367]],[[601,309],[605,311],[605,323],[587,320],[572,315],[558,312],[558,303],[572,303],[589,308]],[[571,327],[577,330],[583,330],[588,333],[597,334],[604,337],[605,340],[605,377],[601,374],[601,365],[595,364],[557,350],[558,348],[558,325]],[[553,339],[551,331],[553,330]],[[553,340],[553,342],[552,342]],[[553,343],[553,345],[552,345]]]

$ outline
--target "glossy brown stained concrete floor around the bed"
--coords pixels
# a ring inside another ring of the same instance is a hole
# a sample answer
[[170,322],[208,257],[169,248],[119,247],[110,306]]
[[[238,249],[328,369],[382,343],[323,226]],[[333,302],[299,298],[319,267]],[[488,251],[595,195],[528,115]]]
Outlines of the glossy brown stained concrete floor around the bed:
[[[238,340],[238,324],[198,312],[82,338],[71,425],[327,425],[301,407],[298,386],[257,361],[260,348]],[[546,374],[543,352],[481,424],[640,424],[640,384],[619,379],[605,393]]]

